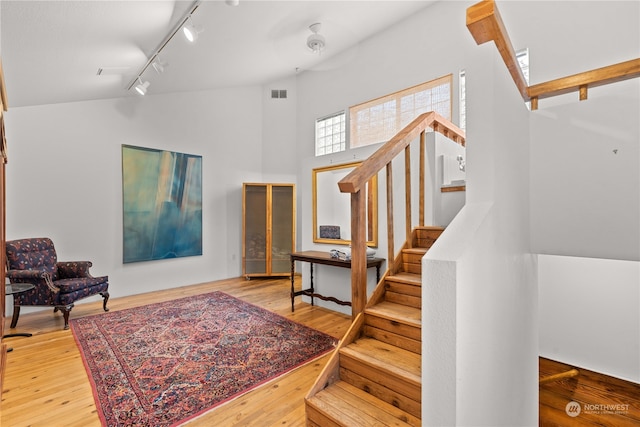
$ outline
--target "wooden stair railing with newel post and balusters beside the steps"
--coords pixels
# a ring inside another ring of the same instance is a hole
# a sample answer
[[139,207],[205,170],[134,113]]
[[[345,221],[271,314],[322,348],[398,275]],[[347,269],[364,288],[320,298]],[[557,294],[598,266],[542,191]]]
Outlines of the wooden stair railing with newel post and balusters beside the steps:
[[404,153],[405,160],[405,232],[406,241],[411,245],[411,231],[413,222],[411,218],[411,158],[410,145],[419,137],[420,163],[419,163],[419,219],[418,225],[424,226],[425,204],[425,174],[426,174],[426,131],[433,129],[451,139],[465,145],[465,134],[462,129],[440,114],[431,111],[418,116],[393,138],[385,143],[378,151],[362,162],[349,175],[344,177],[338,187],[342,193],[351,194],[351,312],[352,318],[364,311],[367,302],[367,238],[366,238],[366,189],[367,182],[386,169],[386,196],[387,196],[387,256],[389,272],[393,274],[395,266],[393,261],[394,249],[394,219],[393,219],[393,170],[391,162]]

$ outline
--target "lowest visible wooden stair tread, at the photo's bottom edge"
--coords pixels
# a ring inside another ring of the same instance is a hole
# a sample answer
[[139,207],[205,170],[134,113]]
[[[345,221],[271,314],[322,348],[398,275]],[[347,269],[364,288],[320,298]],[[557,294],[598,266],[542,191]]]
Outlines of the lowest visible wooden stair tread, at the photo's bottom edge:
[[344,381],[320,391],[308,404],[347,427],[419,426],[420,420]]

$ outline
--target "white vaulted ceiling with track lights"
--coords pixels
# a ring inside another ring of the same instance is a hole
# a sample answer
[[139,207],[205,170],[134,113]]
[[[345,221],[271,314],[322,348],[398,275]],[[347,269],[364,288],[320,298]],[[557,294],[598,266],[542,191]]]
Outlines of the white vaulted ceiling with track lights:
[[[357,57],[363,40],[433,1],[205,0],[193,14],[195,44],[181,34],[163,49],[149,94],[259,85]],[[10,107],[136,96],[127,87],[193,1],[0,2],[0,41]],[[320,22],[326,49],[306,46]],[[98,70],[103,69],[98,75]]]

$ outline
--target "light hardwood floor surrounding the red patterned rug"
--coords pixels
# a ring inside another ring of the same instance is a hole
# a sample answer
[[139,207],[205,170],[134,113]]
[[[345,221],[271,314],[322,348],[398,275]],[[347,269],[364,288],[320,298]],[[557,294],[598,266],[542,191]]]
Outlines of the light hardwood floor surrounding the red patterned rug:
[[[299,289],[299,278],[296,281]],[[291,313],[289,279],[228,279],[109,301],[111,311],[137,307],[184,296],[223,291],[259,305],[297,322],[342,338],[351,316],[313,307],[296,298]],[[71,318],[102,312],[102,299],[76,305]],[[60,313],[47,309],[20,316],[17,328],[31,332],[30,338],[8,338],[13,347],[7,355],[5,383],[2,385],[0,425],[20,426],[100,426],[91,385],[72,332],[62,330]],[[255,389],[208,412],[189,426],[304,426],[304,396],[329,356]]]

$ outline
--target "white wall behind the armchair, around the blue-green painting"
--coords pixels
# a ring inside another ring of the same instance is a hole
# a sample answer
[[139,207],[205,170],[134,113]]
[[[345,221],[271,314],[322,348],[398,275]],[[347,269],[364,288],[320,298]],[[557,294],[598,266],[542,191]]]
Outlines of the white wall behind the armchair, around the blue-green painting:
[[[59,259],[109,275],[113,297],[239,276],[242,182],[265,178],[262,117],[260,87],[12,108],[7,238],[50,236]],[[122,263],[122,144],[203,156],[202,256]]]

